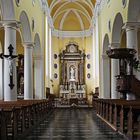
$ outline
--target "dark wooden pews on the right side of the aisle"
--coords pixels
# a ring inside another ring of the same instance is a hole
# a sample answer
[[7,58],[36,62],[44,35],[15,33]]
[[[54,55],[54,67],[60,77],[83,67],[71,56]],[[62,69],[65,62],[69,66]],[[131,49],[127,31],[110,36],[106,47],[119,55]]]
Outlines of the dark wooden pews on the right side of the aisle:
[[97,115],[130,140],[140,140],[140,100],[93,99]]

